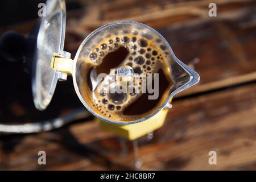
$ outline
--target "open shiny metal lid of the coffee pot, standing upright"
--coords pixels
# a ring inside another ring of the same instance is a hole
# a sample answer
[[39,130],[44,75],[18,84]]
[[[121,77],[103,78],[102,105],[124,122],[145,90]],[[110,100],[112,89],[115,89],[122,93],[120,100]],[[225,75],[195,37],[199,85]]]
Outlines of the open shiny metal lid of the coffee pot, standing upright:
[[63,54],[65,19],[64,0],[48,0],[32,60],[32,94],[39,110],[46,109],[51,102],[60,75],[50,65],[53,53]]

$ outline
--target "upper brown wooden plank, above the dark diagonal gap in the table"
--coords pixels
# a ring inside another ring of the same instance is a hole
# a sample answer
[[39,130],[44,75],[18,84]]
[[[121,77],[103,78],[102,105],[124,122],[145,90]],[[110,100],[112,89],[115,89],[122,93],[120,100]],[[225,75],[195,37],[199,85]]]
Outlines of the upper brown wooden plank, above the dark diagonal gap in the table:
[[[199,85],[179,96],[256,80],[256,1],[218,1],[216,18],[208,16],[208,0],[134,2],[81,2],[82,9],[67,13],[65,49],[75,57],[82,40],[97,27],[113,20],[137,20],[156,28],[177,57],[200,73]],[[27,33],[33,23],[5,30]]]

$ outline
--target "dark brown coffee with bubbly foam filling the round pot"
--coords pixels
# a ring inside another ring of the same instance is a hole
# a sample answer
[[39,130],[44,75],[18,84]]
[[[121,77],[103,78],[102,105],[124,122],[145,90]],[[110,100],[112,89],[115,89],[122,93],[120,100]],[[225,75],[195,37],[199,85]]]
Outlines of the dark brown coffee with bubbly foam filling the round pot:
[[[139,30],[109,34],[85,57],[82,94],[86,103],[102,117],[114,121],[135,121],[154,113],[167,100],[173,85],[169,60],[167,46],[153,35]],[[130,81],[117,79],[117,69],[122,65],[133,69]],[[101,73],[107,77],[99,80]],[[154,77],[155,73],[158,77]],[[112,89],[113,85],[123,92]],[[158,97],[149,99],[153,93],[147,92],[147,85],[158,92]]]

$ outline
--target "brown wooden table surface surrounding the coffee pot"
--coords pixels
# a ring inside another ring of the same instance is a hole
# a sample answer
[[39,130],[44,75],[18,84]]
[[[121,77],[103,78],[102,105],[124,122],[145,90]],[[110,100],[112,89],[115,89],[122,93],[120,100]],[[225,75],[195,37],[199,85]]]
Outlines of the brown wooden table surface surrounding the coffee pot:
[[[198,85],[175,97],[154,138],[138,140],[141,169],[256,169],[256,1],[216,1],[214,18],[208,16],[211,1],[76,2],[81,8],[68,11],[65,37],[65,50],[72,56],[102,24],[137,20],[158,30],[176,56],[201,76]],[[1,28],[0,33],[27,34],[34,22]],[[16,72],[4,81],[9,89],[2,90],[2,121],[38,121],[82,106],[69,79],[58,84],[46,111],[36,111],[29,76],[11,63],[1,74],[9,69]],[[123,155],[120,138],[102,131],[93,118],[46,133],[2,135],[0,169],[133,169],[132,144],[125,144]],[[40,150],[46,151],[47,165],[38,165]],[[209,151],[217,152],[217,165],[209,165]]]

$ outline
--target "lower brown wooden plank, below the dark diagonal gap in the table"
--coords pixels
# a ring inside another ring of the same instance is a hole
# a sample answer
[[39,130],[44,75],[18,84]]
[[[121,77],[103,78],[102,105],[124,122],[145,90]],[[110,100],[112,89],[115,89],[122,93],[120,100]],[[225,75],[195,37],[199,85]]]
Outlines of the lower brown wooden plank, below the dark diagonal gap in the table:
[[[141,140],[142,169],[256,169],[256,84],[177,100],[152,142]],[[93,121],[35,134],[2,137],[0,169],[132,169],[117,137]],[[39,150],[47,165],[37,164]],[[208,152],[217,152],[217,165]]]

